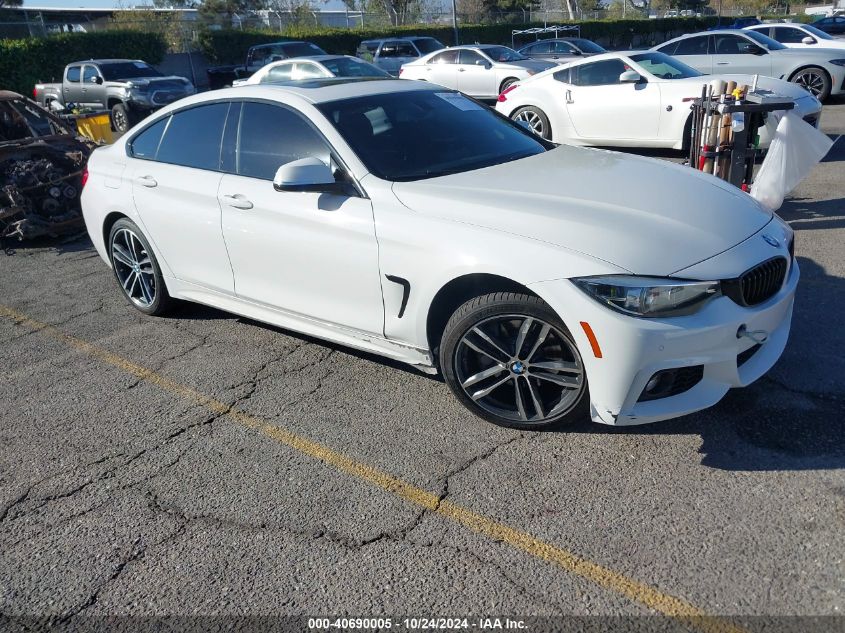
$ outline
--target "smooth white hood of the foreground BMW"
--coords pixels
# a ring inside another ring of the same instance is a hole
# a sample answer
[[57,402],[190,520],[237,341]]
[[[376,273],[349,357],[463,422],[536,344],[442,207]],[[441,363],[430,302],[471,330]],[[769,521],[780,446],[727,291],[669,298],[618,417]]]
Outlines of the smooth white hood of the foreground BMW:
[[393,191],[416,212],[551,243],[642,275],[669,275],[709,259],[772,218],[714,176],[569,145],[471,172],[397,182]]

